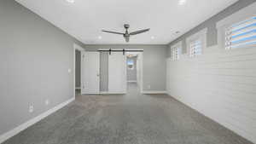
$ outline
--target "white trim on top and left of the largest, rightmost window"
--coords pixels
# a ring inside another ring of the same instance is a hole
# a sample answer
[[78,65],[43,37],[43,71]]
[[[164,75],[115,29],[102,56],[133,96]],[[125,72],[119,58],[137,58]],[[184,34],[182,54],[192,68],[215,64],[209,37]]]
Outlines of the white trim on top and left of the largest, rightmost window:
[[[231,14],[223,20],[219,20],[216,24],[218,30],[218,46],[221,49],[225,49],[225,30],[230,27],[232,24],[238,23],[242,20],[246,20],[249,17],[255,15],[256,3],[252,3],[244,9],[239,10],[238,12]],[[234,49],[231,49],[234,50]]]

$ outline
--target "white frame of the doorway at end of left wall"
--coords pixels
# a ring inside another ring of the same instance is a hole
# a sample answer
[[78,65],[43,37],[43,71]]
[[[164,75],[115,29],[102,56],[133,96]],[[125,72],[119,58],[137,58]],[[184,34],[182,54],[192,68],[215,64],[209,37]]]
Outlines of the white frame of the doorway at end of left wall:
[[[82,53],[83,51],[85,51],[85,49],[79,46],[79,44],[73,43],[73,97],[74,99],[76,98],[76,50],[79,50]],[[82,68],[80,71],[82,72]],[[80,78],[82,80],[82,77]]]

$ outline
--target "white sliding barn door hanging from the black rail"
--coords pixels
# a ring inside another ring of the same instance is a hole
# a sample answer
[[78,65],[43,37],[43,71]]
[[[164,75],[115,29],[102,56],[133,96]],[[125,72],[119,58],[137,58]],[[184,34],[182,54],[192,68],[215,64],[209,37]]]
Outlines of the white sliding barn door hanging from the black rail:
[[108,92],[126,93],[126,56],[120,52],[108,55]]

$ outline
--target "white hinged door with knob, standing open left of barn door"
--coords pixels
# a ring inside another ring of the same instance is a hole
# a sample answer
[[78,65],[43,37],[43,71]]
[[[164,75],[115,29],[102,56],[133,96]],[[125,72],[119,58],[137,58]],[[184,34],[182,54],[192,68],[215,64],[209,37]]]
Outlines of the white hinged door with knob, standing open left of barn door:
[[82,94],[99,94],[100,92],[100,53],[82,53]]

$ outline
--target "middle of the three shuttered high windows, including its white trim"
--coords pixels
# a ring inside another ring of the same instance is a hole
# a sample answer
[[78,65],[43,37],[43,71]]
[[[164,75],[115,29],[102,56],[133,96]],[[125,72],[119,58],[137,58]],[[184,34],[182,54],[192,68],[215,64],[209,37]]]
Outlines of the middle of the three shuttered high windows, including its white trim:
[[187,48],[190,57],[195,57],[196,55],[201,55],[203,49],[206,48],[207,40],[207,29],[201,30],[194,35],[186,39]]

